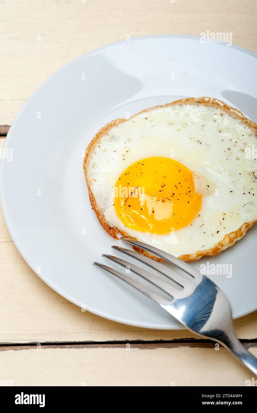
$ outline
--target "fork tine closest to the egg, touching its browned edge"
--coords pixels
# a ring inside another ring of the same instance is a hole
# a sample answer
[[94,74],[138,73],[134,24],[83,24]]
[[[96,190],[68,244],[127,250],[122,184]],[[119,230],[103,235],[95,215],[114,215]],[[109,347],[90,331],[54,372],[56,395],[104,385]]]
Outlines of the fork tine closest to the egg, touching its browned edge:
[[145,242],[140,242],[133,240],[132,238],[121,238],[122,241],[128,242],[129,244],[135,245],[135,247],[139,247],[144,249],[145,251],[150,252],[153,255],[156,255],[165,261],[168,261],[171,264],[176,265],[178,268],[181,268],[181,270],[185,271],[187,274],[191,275],[193,278],[199,279],[200,273],[197,271],[195,268],[190,266],[187,262],[180,260],[179,258],[174,257],[171,254],[168,254],[167,252],[162,251],[159,248],[152,247],[148,244],[145,244]]

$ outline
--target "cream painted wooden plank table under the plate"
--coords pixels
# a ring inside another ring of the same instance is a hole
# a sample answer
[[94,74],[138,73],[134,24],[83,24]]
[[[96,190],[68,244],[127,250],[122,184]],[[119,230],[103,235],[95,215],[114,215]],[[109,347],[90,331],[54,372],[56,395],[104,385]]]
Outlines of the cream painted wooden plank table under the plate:
[[[0,145],[33,90],[95,47],[160,33],[232,32],[257,52],[254,0],[8,0],[1,3]],[[234,322],[257,356],[257,312]],[[130,346],[128,346],[128,343]],[[17,251],[0,216],[0,380],[13,385],[245,386],[226,349],[186,330],[146,330],[82,312]]]

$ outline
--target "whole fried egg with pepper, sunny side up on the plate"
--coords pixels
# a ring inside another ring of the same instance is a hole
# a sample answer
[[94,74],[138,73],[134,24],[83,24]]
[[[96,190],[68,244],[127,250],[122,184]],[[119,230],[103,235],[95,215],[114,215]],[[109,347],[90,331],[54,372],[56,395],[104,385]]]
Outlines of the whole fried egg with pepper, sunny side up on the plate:
[[256,135],[254,122],[212,98],[112,121],[84,159],[98,220],[113,237],[184,260],[218,254],[257,221]]

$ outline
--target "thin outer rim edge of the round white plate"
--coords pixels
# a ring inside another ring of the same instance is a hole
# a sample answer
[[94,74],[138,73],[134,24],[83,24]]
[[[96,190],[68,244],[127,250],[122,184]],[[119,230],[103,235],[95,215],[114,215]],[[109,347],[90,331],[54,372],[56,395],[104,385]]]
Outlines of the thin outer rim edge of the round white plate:
[[[147,35],[147,36],[138,36],[138,37],[132,37],[130,39],[130,41],[137,41],[137,40],[147,40],[147,39],[158,39],[158,38],[187,38],[187,39],[192,39],[192,40],[200,40],[200,36],[194,36],[194,35],[185,35],[185,34],[158,34],[158,35]],[[46,82],[48,82],[48,80],[50,80],[50,78],[52,78],[53,76],[55,76],[59,71],[61,71],[62,69],[64,69],[65,67],[69,66],[70,64],[73,64],[76,61],[79,61],[81,59],[84,59],[85,57],[88,57],[90,55],[93,55],[94,53],[100,52],[106,48],[112,47],[114,45],[118,45],[121,43],[124,43],[126,40],[122,39],[122,40],[117,40],[115,42],[112,43],[107,43],[105,45],[102,45],[100,47],[97,47],[93,50],[89,50],[86,53],[83,53],[82,55],[72,59],[70,62],[64,64],[63,66],[61,66],[59,69],[57,69],[56,71],[54,71],[50,76],[48,76],[42,83],[40,83],[40,85],[38,85],[38,87],[33,91],[33,93],[31,93],[31,95],[27,98],[26,102],[24,102],[24,104],[22,105],[22,107],[19,109],[19,112],[17,113],[17,115],[15,116],[10,129],[7,133],[7,136],[5,138],[5,143],[3,148],[5,148],[8,143],[9,140],[11,138],[12,135],[12,130],[15,127],[15,124],[17,122],[17,120],[19,119],[19,117],[21,116],[22,112],[24,111],[24,109],[26,108],[26,105],[29,103],[29,101],[31,99],[33,99],[33,96],[38,92],[38,90],[40,90],[40,88],[42,88],[44,86],[44,84]],[[226,46],[225,43],[217,43],[220,46]],[[235,44],[232,44],[229,47],[233,47],[234,49],[240,50],[242,52],[245,52],[249,55],[252,55],[254,57],[257,58],[257,53],[253,52],[252,50],[246,49],[245,47],[242,46],[238,46]],[[13,231],[12,231],[12,224],[9,221],[8,218],[8,212],[7,212],[7,208],[5,205],[5,195],[4,195],[4,185],[3,185],[3,170],[4,170],[4,162],[0,162],[0,202],[1,202],[1,207],[2,207],[2,214],[5,218],[5,224],[7,226],[7,229],[10,233],[10,236],[12,238],[12,241],[15,244],[15,247],[18,249],[19,253],[21,254],[21,256],[24,258],[24,260],[26,261],[26,263],[29,265],[29,267],[32,269],[32,271],[43,281],[45,282],[50,288],[52,288],[52,290],[54,290],[55,292],[57,292],[59,295],[61,295],[62,297],[64,297],[65,299],[67,299],[68,301],[72,302],[73,304],[75,304],[76,306],[81,307],[81,303],[79,303],[79,301],[76,301],[75,299],[73,299],[72,297],[69,296],[69,294],[66,294],[65,292],[63,292],[62,290],[60,290],[57,286],[53,285],[52,282],[50,282],[50,280],[48,280],[48,278],[45,278],[45,276],[43,276],[42,274],[38,274],[36,273],[36,271],[34,270],[34,266],[33,263],[31,262],[31,259],[29,258],[29,256],[24,252],[23,248],[21,247],[21,245],[19,244],[18,240],[16,239],[16,236],[14,236]],[[90,313],[93,313],[95,315],[98,315],[100,317],[106,318],[107,320],[112,320],[118,323],[122,323],[125,325],[132,325],[135,327],[141,327],[141,328],[147,328],[147,329],[151,329],[151,330],[169,330],[169,331],[173,331],[173,330],[186,330],[186,328],[184,328],[183,325],[178,325],[177,327],[172,327],[172,328],[168,328],[167,325],[161,325],[161,324],[157,324],[157,325],[153,325],[153,324],[145,324],[145,323],[141,323],[141,322],[130,322],[129,320],[124,321],[124,319],[119,318],[119,317],[114,317],[114,316],[109,316],[106,313],[103,313],[102,311],[97,311],[95,309],[92,309],[89,306],[83,305],[83,307],[86,309],[86,311],[89,311]],[[247,314],[252,313],[253,311],[257,310],[257,304],[256,306],[252,307],[251,309],[248,309],[246,311],[243,311],[241,313],[237,313],[233,316],[233,319],[239,318],[239,317],[243,317]]]

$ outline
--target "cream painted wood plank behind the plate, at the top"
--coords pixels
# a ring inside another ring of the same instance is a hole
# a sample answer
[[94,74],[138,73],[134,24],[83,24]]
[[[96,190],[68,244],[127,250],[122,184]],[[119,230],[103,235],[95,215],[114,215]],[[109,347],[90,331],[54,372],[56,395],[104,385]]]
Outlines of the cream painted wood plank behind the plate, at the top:
[[257,52],[256,15],[252,0],[2,1],[0,125],[54,71],[127,34],[231,32],[233,43]]

